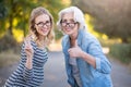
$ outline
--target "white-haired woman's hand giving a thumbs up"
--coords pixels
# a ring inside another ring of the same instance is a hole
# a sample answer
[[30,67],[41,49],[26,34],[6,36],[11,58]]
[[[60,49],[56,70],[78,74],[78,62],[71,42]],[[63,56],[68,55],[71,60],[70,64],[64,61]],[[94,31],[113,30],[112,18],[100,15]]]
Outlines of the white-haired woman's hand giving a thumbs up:
[[75,40],[74,47],[73,47],[73,48],[70,48],[70,49],[68,50],[68,52],[69,52],[70,57],[72,57],[72,58],[82,57],[82,52],[83,52],[83,51],[82,51],[82,49],[79,47],[78,40]]

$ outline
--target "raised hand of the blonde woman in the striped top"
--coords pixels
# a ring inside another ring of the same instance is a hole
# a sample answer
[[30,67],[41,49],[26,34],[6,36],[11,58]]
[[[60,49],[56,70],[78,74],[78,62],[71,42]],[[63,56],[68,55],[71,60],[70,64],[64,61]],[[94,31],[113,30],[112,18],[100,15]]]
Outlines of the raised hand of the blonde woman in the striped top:
[[25,53],[27,58],[33,58],[34,49],[33,46],[31,45],[31,39],[27,37],[25,38],[24,42],[25,42]]

